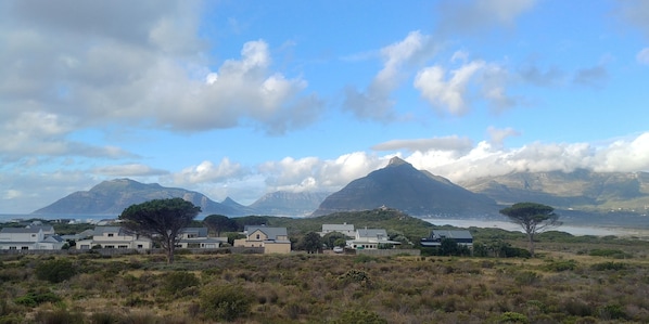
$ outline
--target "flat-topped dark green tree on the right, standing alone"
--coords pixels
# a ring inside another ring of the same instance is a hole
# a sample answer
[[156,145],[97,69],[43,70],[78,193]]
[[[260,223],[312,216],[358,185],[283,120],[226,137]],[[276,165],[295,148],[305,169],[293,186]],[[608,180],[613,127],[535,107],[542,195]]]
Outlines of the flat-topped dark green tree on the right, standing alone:
[[518,203],[500,209],[509,221],[519,224],[530,241],[530,255],[534,258],[534,235],[561,225],[555,208],[536,203]]

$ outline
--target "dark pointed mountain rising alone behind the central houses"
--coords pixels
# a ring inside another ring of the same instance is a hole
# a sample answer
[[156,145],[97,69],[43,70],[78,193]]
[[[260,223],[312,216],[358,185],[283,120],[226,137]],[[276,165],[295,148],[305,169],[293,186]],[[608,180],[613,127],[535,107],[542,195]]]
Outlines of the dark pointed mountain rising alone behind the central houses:
[[466,217],[497,213],[496,202],[445,178],[415,169],[398,157],[356,179],[320,204],[313,216],[374,209],[381,206],[410,216]]

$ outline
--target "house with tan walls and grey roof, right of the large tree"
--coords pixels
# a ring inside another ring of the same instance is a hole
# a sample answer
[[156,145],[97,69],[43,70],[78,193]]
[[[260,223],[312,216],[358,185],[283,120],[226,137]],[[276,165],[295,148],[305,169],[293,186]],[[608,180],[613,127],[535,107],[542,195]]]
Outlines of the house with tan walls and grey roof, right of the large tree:
[[245,238],[234,239],[234,247],[264,247],[264,254],[290,254],[287,228],[245,226]]

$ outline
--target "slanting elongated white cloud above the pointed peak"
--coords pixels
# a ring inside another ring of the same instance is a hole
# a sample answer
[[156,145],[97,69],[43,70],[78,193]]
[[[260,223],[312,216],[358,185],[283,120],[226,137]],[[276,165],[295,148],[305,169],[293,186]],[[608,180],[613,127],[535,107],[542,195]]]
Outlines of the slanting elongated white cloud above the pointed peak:
[[394,104],[391,94],[404,78],[403,69],[423,62],[434,54],[430,36],[411,31],[402,41],[381,49],[383,68],[374,76],[365,91],[353,87],[345,89],[344,109],[361,119],[387,121],[393,119]]

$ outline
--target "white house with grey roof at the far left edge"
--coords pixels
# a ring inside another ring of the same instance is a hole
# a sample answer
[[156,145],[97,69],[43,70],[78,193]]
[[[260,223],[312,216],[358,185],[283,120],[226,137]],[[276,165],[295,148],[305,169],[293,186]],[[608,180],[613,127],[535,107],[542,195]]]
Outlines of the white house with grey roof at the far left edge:
[[0,249],[61,249],[64,244],[65,242],[54,234],[52,226],[4,228],[0,230]]

